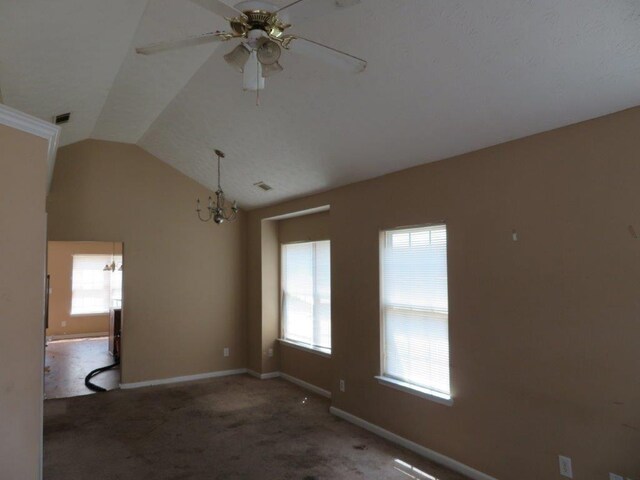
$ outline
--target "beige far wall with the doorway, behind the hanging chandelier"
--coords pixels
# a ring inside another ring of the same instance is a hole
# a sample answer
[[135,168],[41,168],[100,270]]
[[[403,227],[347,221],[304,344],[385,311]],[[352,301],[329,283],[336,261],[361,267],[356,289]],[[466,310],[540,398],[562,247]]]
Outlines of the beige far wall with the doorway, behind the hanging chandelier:
[[134,145],[59,150],[49,239],[125,244],[123,383],[246,367],[245,214],[200,222],[208,195]]

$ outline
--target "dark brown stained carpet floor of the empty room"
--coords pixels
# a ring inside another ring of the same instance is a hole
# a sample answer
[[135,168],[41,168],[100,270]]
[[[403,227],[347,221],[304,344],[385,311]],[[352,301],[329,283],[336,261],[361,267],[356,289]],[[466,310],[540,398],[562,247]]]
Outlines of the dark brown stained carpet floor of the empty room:
[[45,402],[45,480],[464,480],[247,375]]

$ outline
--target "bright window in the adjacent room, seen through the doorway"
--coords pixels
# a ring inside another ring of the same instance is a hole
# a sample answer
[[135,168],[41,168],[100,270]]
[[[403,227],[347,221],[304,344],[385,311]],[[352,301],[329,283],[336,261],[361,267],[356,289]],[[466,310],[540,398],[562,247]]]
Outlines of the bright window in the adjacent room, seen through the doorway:
[[74,255],[71,281],[71,315],[108,313],[122,300],[122,272],[104,271],[112,261],[122,264],[122,258],[111,255]]

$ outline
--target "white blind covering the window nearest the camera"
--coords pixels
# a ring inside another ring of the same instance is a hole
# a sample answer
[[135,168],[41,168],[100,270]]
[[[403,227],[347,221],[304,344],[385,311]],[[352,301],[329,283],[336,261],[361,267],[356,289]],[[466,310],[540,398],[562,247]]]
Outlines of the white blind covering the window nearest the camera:
[[446,225],[383,234],[384,377],[450,396]]

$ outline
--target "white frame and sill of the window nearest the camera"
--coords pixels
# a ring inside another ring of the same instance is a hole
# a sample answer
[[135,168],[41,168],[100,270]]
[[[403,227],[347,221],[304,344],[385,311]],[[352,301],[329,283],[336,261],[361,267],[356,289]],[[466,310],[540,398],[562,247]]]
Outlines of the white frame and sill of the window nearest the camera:
[[[386,360],[386,345],[385,345],[385,340],[386,340],[386,335],[385,335],[385,310],[387,309],[387,306],[385,305],[385,299],[384,299],[384,249],[385,249],[385,242],[386,242],[386,236],[388,233],[400,233],[402,231],[412,231],[412,230],[418,230],[421,228],[424,229],[428,229],[428,228],[433,228],[433,227],[444,227],[446,232],[447,232],[447,243],[446,243],[446,256],[447,256],[447,270],[448,270],[448,257],[449,257],[449,239],[448,239],[448,228],[446,223],[441,222],[441,223],[431,223],[431,224],[423,224],[423,225],[414,225],[414,226],[407,226],[407,227],[397,227],[397,228],[389,228],[389,229],[384,229],[380,231],[380,237],[379,237],[379,245],[380,245],[380,375],[376,375],[376,379],[378,380],[378,382],[381,385],[387,386],[387,387],[391,387],[394,388],[396,390],[400,390],[406,393],[410,393],[412,395],[416,395],[422,398],[426,398],[428,400],[431,400],[435,403],[439,403],[441,405],[445,405],[445,406],[452,406],[453,405],[453,397],[451,394],[451,351],[449,349],[449,355],[448,355],[448,360],[449,360],[449,371],[448,371],[448,380],[449,380],[449,392],[450,393],[443,393],[437,390],[433,390],[433,389],[429,389],[429,388],[425,388],[423,386],[420,385],[416,385],[413,383],[409,383],[406,381],[403,381],[401,379],[392,377],[392,376],[387,376],[385,375],[385,360]],[[448,285],[448,271],[447,271],[447,292],[449,289],[449,285]],[[448,298],[448,293],[447,293],[447,298]],[[418,310],[418,309],[416,309]],[[445,314],[441,314],[441,313],[437,313],[437,312],[429,312],[429,315],[431,316],[440,316],[443,315],[446,320],[447,320],[447,331],[450,331],[449,328],[449,313],[448,313],[448,306],[447,306],[447,312]],[[450,343],[449,343],[449,348],[450,348]]]

